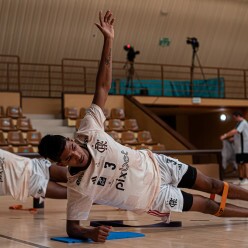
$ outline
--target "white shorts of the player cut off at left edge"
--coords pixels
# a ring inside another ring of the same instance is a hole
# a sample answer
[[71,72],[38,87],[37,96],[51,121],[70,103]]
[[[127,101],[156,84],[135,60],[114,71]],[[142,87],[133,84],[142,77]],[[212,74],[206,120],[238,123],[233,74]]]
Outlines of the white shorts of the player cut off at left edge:
[[45,198],[47,184],[50,179],[51,163],[45,159],[32,159],[33,169],[29,184],[29,195],[34,198]]

